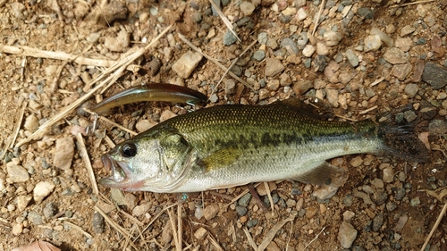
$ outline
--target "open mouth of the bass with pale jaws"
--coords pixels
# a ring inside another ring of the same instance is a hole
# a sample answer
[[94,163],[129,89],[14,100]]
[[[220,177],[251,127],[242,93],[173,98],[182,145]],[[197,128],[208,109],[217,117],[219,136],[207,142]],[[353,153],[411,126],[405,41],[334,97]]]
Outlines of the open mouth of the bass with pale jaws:
[[109,188],[129,188],[131,183],[129,165],[115,161],[110,155],[103,155],[102,161],[105,170],[107,172],[112,171],[112,176],[99,180],[99,184]]

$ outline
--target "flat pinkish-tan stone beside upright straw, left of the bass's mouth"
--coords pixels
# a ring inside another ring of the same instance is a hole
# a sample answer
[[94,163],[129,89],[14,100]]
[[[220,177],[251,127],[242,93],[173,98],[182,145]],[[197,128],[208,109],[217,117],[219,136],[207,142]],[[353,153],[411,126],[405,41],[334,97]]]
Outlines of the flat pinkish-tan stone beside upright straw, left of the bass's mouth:
[[65,172],[71,171],[74,156],[74,141],[72,137],[58,138],[55,144],[53,165]]

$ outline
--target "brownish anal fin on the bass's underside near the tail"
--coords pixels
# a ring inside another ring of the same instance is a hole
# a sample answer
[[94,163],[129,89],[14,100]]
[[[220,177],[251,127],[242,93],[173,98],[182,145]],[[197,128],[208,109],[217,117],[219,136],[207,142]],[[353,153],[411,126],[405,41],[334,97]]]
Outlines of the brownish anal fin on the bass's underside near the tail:
[[292,180],[319,186],[341,187],[348,180],[348,172],[324,162],[309,172],[293,177]]

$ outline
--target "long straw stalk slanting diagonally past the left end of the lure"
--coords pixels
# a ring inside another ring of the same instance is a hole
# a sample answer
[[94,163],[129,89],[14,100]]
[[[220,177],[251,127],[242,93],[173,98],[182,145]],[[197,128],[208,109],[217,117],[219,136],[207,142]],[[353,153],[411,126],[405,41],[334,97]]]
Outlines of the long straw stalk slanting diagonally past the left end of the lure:
[[[67,105],[65,108],[63,108],[63,111],[61,113],[56,114],[54,117],[52,117],[51,119],[46,121],[46,123],[44,123],[42,126],[40,126],[39,129],[37,131],[35,131],[29,138],[22,139],[21,142],[19,142],[17,144],[17,146],[21,146],[27,142],[30,142],[30,140],[33,140],[35,138],[41,138],[46,133],[46,130],[51,128],[57,121],[60,121],[61,119],[63,119],[63,117],[68,115],[68,113],[71,113],[74,108],[78,107],[80,104],[82,104],[84,101],[86,101],[99,88],[102,88],[103,86],[105,86],[105,84],[107,84],[109,81],[118,79],[122,75],[122,72],[126,69],[126,67],[129,64],[131,64],[133,61],[135,61],[137,58],[139,58],[139,56],[141,54],[144,54],[144,52],[146,50],[148,50],[148,48],[150,48],[151,46],[154,46],[156,41],[158,39],[160,39],[162,36],[164,36],[164,34],[169,29],[171,29],[171,27],[172,27],[172,25],[170,25],[168,28],[164,29],[164,31],[162,33],[160,33],[160,35],[158,35],[156,38],[154,38],[154,40],[152,40],[148,44],[148,46],[145,46],[144,48],[139,48],[136,52],[126,55],[126,56],[123,56],[120,61],[114,63],[114,65],[112,65],[110,68],[108,68],[107,70],[102,72],[101,75],[99,75],[96,79],[93,79],[89,84],[92,85],[93,83],[96,83],[96,82],[100,81],[101,79],[104,79],[106,75],[108,75],[109,73],[112,73],[113,71],[114,71],[114,74],[112,74],[111,76],[109,76],[108,78],[103,80],[95,88],[92,88],[86,95],[81,96],[78,100],[73,102],[71,105]],[[1,48],[2,47],[0,46],[0,49]]]

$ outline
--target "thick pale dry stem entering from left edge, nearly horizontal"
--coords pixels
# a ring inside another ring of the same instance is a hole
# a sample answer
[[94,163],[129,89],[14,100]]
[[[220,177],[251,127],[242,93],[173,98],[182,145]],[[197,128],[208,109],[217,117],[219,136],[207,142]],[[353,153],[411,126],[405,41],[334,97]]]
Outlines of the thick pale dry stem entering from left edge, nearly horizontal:
[[62,60],[67,62],[79,63],[82,65],[110,67],[115,61],[105,59],[93,59],[76,54],[67,54],[64,52],[51,52],[32,48],[29,46],[6,46],[0,44],[0,53],[16,54],[18,56],[31,56],[47,59]]

